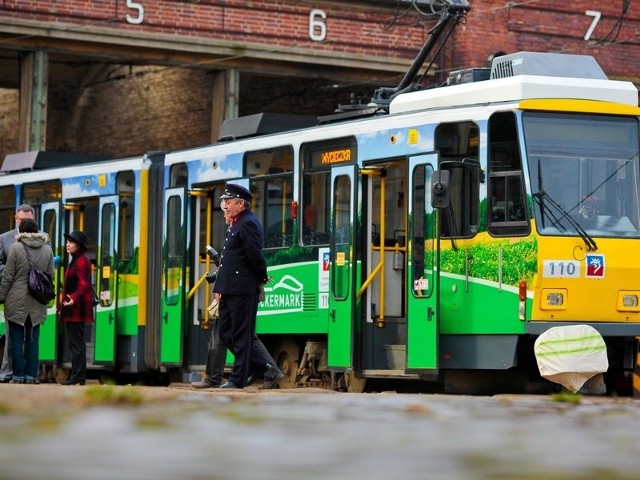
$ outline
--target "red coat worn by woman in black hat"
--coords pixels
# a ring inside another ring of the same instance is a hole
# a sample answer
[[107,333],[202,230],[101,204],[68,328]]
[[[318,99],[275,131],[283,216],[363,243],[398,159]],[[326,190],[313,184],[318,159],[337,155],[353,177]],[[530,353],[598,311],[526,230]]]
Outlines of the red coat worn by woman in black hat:
[[60,302],[59,319],[62,322],[93,322],[93,292],[91,291],[91,260],[85,253],[74,255],[64,272],[62,299],[69,295],[75,302],[63,307]]

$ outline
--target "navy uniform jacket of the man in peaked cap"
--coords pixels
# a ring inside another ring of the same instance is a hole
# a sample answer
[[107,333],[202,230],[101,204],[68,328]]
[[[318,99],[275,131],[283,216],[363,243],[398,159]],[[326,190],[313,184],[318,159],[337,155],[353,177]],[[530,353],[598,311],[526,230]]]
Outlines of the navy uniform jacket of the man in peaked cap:
[[253,212],[242,212],[227,229],[214,292],[222,295],[259,293],[260,284],[267,281],[262,237],[262,226]]

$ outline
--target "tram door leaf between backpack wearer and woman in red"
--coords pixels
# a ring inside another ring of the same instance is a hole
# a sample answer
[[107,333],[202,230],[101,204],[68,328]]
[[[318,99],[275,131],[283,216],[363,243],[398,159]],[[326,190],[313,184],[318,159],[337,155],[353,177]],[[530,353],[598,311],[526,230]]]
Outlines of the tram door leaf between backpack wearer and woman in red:
[[[49,235],[49,242],[54,255],[64,257],[60,248],[60,204],[58,202],[43,203],[40,206],[40,229]],[[61,270],[56,268],[53,284],[62,285],[62,278],[58,277]],[[40,327],[39,359],[41,362],[55,362],[58,346],[58,322],[56,321],[57,303],[54,301],[47,308],[47,321]]]

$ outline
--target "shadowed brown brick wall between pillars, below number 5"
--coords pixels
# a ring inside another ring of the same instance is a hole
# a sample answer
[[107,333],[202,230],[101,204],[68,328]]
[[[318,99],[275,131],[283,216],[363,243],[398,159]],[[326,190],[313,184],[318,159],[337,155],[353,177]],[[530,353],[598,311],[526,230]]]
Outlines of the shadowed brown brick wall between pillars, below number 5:
[[204,71],[123,66],[50,103],[47,146],[124,157],[208,142],[211,80]]

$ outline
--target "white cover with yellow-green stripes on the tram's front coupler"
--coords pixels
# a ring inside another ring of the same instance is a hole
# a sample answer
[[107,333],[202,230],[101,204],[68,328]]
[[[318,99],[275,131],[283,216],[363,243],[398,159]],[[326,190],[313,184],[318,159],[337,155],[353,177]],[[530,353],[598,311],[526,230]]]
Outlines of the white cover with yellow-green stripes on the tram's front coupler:
[[533,351],[540,375],[574,393],[609,368],[607,346],[589,325],[550,328],[538,337]]

